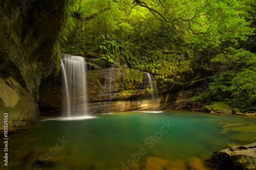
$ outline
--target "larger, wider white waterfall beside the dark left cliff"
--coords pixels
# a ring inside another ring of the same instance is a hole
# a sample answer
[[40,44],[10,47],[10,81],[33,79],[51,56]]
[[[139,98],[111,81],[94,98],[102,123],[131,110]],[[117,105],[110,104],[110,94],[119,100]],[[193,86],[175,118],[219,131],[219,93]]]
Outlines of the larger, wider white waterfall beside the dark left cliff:
[[67,96],[65,115],[68,117],[87,113],[86,65],[84,58],[79,56],[66,55],[61,59],[63,86]]

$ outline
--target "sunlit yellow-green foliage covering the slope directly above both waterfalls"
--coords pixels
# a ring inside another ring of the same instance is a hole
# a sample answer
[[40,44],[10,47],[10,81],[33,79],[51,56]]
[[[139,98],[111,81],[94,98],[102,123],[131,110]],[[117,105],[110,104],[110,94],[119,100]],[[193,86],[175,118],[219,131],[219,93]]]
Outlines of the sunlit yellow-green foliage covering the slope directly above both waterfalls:
[[192,72],[189,62],[198,53],[226,42],[239,44],[253,31],[248,27],[252,0],[79,0],[72,10],[89,16],[108,2],[111,9],[94,19],[70,19],[75,26],[63,33],[69,33],[62,38],[69,41],[63,45],[65,52],[94,52],[100,59],[151,72],[168,83],[182,80],[175,77],[181,72]]

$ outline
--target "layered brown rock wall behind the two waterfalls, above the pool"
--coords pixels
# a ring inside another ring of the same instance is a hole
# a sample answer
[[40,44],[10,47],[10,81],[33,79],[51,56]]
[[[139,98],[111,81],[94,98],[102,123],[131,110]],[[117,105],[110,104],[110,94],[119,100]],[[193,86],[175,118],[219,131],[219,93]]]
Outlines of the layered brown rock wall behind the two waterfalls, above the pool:
[[[194,62],[191,63],[194,74],[186,75],[183,86],[169,85],[162,88],[156,85],[156,89],[153,85],[153,91],[149,91],[151,86],[146,72],[127,67],[103,69],[95,64],[100,63],[99,60],[86,60],[89,68],[92,67],[87,72],[89,114],[129,110],[189,110],[187,105],[191,104],[191,96],[205,90],[210,82],[208,77],[219,74],[223,69],[217,65],[203,69]],[[105,66],[104,63],[100,65]],[[62,106],[66,104],[61,75],[52,75],[40,87],[39,107],[44,112],[42,115],[60,115]],[[79,98],[81,96],[71,96],[72,101]],[[79,109],[79,103],[76,107]]]

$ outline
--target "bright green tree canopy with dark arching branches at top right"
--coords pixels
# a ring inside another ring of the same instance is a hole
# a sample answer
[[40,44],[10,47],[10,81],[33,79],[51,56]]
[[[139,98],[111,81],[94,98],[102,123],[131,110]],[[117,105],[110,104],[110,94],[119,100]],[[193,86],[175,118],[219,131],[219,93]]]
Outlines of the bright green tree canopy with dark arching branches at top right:
[[[248,1],[134,0],[157,19],[183,34],[187,43],[219,46],[223,41],[245,40],[253,30],[242,13]],[[202,39],[203,38],[203,39]]]

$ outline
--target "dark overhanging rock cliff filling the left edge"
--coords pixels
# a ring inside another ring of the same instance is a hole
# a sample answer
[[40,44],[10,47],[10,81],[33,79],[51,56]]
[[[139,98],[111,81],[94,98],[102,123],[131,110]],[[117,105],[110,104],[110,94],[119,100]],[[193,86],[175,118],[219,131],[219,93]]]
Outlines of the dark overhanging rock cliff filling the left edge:
[[64,5],[65,0],[0,2],[0,121],[8,113],[9,134],[39,121],[34,98],[50,74]]

